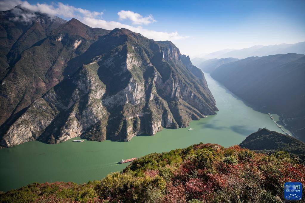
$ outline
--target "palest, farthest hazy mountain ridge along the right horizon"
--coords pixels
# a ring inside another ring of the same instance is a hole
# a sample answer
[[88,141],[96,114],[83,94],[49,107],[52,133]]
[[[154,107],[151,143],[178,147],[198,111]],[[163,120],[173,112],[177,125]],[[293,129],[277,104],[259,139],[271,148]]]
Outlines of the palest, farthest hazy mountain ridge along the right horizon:
[[251,56],[268,56],[276,54],[305,54],[305,42],[296,44],[276,44],[276,45],[255,45],[253,47],[238,50],[221,50],[203,56],[205,59],[211,58],[248,58]]

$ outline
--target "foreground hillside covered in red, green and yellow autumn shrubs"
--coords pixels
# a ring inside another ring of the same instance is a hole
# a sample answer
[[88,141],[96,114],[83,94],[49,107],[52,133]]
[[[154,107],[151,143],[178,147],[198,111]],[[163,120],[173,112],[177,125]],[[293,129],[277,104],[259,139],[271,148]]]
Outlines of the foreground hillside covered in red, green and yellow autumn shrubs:
[[284,202],[284,183],[304,179],[305,166],[287,153],[199,143],[143,156],[87,184],[29,184],[0,202]]

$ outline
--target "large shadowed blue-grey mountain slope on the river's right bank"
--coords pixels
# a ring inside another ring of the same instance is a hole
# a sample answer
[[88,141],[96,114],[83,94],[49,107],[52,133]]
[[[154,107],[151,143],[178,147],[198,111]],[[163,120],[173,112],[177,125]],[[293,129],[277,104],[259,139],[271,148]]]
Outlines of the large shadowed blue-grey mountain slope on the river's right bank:
[[305,141],[305,55],[249,57],[221,65],[211,76],[249,103],[280,115]]

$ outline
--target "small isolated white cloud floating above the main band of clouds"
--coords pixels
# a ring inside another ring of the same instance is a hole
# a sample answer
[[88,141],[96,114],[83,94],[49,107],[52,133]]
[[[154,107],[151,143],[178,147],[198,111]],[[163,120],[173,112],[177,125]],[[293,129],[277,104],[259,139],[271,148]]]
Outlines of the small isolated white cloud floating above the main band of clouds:
[[142,25],[142,24],[148,25],[149,23],[157,22],[155,19],[153,19],[152,15],[143,17],[140,14],[132,11],[121,10],[120,12],[117,13],[117,15],[119,15],[120,20],[129,19],[132,21],[132,24],[136,24],[136,25]]

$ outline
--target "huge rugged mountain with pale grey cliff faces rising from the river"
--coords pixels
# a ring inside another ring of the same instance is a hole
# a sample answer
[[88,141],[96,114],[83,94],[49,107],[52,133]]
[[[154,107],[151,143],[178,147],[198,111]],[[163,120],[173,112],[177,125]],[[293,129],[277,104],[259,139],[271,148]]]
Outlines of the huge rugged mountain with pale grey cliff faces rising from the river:
[[[75,41],[78,46],[81,40]],[[13,122],[2,146],[31,140],[54,144],[77,136],[129,141],[216,114],[204,75],[194,75],[196,67],[184,64],[171,42],[115,29],[92,46],[77,58],[84,65]]]

